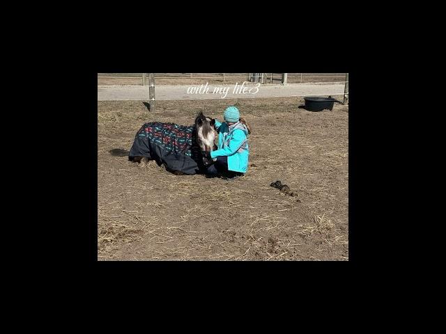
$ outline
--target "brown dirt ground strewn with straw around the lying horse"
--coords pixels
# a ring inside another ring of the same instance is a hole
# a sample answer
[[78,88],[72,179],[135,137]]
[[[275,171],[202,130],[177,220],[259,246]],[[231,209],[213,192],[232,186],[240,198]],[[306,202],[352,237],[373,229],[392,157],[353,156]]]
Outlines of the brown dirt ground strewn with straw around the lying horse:
[[[148,113],[140,101],[98,102],[98,260],[348,260],[348,106],[303,103],[162,101]],[[252,127],[240,180],[173,175],[108,152],[129,150],[144,122],[192,125],[199,111],[222,120],[231,104]]]

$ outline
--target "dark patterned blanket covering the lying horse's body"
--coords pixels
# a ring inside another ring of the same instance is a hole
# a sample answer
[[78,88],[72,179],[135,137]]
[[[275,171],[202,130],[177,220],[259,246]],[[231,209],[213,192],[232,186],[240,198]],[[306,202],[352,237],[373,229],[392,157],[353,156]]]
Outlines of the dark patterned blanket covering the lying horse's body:
[[195,136],[194,127],[148,122],[137,132],[129,159],[141,156],[164,164],[171,172],[201,173],[205,167]]

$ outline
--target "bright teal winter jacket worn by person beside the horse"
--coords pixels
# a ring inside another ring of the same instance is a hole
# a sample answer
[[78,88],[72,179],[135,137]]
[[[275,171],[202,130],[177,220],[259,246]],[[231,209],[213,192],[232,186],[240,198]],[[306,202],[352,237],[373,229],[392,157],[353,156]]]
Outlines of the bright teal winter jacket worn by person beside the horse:
[[210,157],[228,157],[228,169],[234,172],[246,173],[248,169],[249,147],[247,142],[248,129],[240,121],[231,125],[215,120],[218,132],[218,148],[210,152]]

